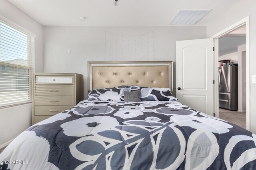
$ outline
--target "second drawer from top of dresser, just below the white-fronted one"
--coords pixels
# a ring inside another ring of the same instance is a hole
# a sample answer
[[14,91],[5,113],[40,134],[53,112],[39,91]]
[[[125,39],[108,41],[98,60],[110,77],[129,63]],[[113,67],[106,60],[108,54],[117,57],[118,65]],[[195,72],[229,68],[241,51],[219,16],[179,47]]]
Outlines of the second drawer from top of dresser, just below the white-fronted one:
[[73,86],[36,86],[36,96],[73,96]]

